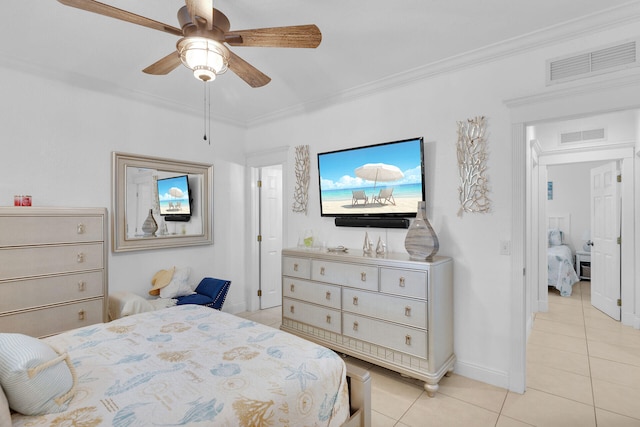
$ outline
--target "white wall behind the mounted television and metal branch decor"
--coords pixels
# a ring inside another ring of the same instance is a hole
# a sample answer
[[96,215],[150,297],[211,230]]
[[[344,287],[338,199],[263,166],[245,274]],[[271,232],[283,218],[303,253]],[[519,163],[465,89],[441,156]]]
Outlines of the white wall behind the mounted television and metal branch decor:
[[[247,149],[309,144],[314,159],[318,152],[424,136],[428,216],[440,240],[439,253],[451,256],[455,262],[456,371],[507,387],[512,375],[514,322],[510,317],[510,297],[518,284],[512,283],[510,257],[500,255],[499,250],[501,240],[513,238],[513,168],[525,165],[511,164],[511,124],[517,120],[510,116],[505,101],[552,90],[545,86],[544,64],[548,58],[626,39],[630,33],[637,34],[637,28],[619,27],[496,62],[479,63],[471,69],[437,74],[330,108],[310,109],[303,117],[260,124],[248,131]],[[537,114],[544,116],[545,112]],[[572,112],[566,114],[570,116]],[[456,122],[476,115],[488,119],[487,175],[492,210],[459,217]],[[289,162],[293,164],[293,148]],[[291,168],[288,174],[286,207],[291,206],[295,185]],[[374,241],[382,236],[389,250],[404,251],[404,230],[338,228],[331,218],[321,218],[317,181],[317,164],[312,161],[309,213],[305,216],[287,209],[285,224],[292,232],[285,245],[294,246],[298,234],[311,228],[331,246],[360,248],[368,231]]]

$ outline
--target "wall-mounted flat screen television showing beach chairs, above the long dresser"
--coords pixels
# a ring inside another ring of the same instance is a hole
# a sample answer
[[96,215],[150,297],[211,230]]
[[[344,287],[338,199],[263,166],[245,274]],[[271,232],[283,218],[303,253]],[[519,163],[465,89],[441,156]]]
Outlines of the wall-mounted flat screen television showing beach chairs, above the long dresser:
[[318,175],[322,216],[415,217],[425,200],[423,138],[318,153]]

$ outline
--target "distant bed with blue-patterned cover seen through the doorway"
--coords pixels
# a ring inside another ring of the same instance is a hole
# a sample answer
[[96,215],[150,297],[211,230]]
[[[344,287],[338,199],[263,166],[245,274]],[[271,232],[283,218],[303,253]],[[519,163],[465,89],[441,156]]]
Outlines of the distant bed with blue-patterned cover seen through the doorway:
[[573,264],[573,251],[565,244],[564,232],[559,228],[563,224],[569,227],[568,221],[567,216],[550,217],[551,228],[547,231],[547,284],[563,297],[571,296],[573,285],[580,281]]

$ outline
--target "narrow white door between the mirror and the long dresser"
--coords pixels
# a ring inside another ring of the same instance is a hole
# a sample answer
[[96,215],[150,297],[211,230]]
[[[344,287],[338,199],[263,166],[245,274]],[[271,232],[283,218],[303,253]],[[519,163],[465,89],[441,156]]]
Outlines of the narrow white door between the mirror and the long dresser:
[[261,168],[260,308],[282,304],[282,165]]

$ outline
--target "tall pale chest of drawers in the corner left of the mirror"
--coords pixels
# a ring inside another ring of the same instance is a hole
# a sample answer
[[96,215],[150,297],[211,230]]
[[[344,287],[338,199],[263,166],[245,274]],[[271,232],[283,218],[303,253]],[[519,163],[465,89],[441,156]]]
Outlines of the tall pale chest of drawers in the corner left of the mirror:
[[0,332],[107,320],[107,211],[0,207]]

